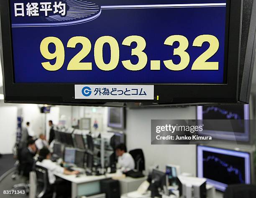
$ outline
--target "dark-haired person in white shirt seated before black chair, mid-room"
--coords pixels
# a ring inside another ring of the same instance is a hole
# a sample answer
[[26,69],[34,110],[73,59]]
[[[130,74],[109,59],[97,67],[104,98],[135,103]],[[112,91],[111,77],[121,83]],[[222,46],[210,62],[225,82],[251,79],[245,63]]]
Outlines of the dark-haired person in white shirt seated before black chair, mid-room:
[[115,147],[115,152],[118,156],[118,165],[120,165],[123,172],[128,172],[135,168],[134,159],[131,154],[127,152],[127,148],[124,144]]

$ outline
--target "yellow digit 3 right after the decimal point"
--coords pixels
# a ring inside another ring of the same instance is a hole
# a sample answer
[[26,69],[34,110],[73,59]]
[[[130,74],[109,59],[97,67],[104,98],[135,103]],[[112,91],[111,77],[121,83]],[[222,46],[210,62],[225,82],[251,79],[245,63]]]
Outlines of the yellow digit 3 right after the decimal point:
[[173,71],[181,71],[189,65],[189,54],[186,52],[189,42],[186,37],[182,35],[173,35],[166,38],[165,45],[172,46],[174,42],[179,42],[179,47],[174,49],[173,55],[180,56],[180,63],[174,64],[172,60],[164,61],[166,68]]

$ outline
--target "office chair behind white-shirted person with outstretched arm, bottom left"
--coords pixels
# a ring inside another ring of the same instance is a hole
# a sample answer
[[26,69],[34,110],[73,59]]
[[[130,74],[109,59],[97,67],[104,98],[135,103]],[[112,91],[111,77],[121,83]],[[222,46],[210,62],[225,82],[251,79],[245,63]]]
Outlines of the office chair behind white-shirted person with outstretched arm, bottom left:
[[56,198],[56,190],[49,183],[48,170],[36,165],[36,198]]

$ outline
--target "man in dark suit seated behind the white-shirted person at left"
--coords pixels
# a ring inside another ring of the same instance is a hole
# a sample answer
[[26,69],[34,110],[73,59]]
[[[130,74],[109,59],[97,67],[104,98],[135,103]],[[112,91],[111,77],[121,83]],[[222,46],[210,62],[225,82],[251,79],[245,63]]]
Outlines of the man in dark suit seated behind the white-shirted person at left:
[[34,140],[28,140],[28,146],[23,148],[20,153],[20,173],[25,177],[29,177],[29,172],[33,170],[34,159],[36,154],[36,144]]

